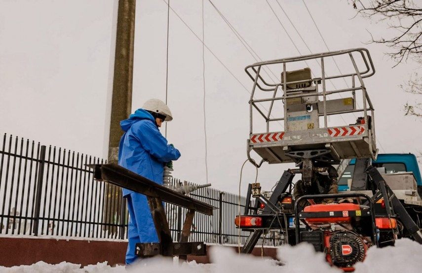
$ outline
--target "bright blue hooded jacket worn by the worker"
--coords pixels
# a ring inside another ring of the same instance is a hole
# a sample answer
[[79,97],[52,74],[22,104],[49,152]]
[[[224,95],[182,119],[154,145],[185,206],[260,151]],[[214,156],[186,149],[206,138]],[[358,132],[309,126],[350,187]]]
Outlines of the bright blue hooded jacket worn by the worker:
[[[177,160],[179,150],[167,144],[153,115],[144,109],[138,109],[122,120],[120,127],[125,133],[119,143],[118,164],[162,185],[164,165]],[[123,196],[132,192],[123,189]]]

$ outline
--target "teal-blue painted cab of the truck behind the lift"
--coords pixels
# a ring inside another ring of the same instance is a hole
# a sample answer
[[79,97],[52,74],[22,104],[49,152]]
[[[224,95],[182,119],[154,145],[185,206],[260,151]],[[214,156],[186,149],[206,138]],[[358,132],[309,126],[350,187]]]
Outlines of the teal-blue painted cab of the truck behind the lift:
[[[352,159],[339,179],[339,191],[348,190],[347,180],[352,179],[355,166],[355,159]],[[414,154],[379,154],[377,160],[372,161],[372,166],[385,168],[385,173],[413,172],[418,189],[422,189],[421,172],[419,171],[418,160]]]

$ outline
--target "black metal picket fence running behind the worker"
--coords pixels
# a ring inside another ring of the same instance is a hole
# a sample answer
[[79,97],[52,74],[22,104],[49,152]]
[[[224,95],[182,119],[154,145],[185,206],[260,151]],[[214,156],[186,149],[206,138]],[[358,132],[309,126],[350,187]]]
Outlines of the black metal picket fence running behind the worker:
[[[0,235],[127,238],[128,212],[120,188],[95,181],[87,167],[105,160],[6,134],[0,155]],[[213,188],[198,189],[191,197],[217,208],[212,216],[196,213],[191,241],[245,242],[249,232],[239,233],[234,226],[239,201],[244,211],[244,197]],[[186,209],[166,204],[165,210],[178,240]],[[278,245],[279,240],[272,235],[258,243]]]

